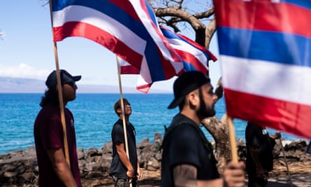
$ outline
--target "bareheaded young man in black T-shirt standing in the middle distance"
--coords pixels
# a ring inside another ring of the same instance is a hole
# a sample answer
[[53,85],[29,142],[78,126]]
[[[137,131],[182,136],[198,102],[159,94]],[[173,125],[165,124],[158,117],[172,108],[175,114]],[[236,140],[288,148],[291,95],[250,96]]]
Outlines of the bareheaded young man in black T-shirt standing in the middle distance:
[[143,177],[139,167],[136,151],[136,131],[135,127],[129,122],[131,116],[131,104],[127,99],[123,99],[124,103],[124,118],[126,123],[127,142],[129,146],[129,158],[126,155],[123,116],[121,99],[115,102],[115,113],[119,117],[113,125],[111,138],[113,140],[113,161],[111,162],[109,175],[112,176],[115,182],[115,187],[137,186],[137,179]]

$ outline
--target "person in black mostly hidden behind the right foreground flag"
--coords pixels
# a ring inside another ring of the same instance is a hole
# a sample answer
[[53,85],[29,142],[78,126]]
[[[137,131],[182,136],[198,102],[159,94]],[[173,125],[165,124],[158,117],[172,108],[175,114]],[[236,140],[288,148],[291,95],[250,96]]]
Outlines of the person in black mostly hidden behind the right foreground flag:
[[281,137],[280,132],[269,135],[266,127],[247,123],[246,140],[246,171],[248,187],[264,187],[268,184],[268,172],[273,169],[273,148],[275,139]]

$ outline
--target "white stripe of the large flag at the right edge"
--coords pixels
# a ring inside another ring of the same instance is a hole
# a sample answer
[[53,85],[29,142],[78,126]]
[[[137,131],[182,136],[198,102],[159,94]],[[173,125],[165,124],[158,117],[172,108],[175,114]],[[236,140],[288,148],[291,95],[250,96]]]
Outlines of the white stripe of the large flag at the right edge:
[[[311,68],[220,55],[224,88],[311,105]],[[268,83],[268,84],[267,84]]]

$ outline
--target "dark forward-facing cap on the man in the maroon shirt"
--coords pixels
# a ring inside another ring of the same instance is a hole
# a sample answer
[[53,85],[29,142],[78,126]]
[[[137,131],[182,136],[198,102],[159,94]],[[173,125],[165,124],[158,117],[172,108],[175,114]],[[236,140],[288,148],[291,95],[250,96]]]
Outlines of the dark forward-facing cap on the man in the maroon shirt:
[[[81,76],[72,76],[68,73],[68,71],[64,69],[60,69],[60,75],[61,75],[61,82],[62,85],[68,84],[68,83],[75,83],[76,81],[80,81]],[[48,88],[55,88],[57,85],[57,78],[56,78],[56,71],[52,71],[48,78],[45,81],[45,85],[48,86]]]

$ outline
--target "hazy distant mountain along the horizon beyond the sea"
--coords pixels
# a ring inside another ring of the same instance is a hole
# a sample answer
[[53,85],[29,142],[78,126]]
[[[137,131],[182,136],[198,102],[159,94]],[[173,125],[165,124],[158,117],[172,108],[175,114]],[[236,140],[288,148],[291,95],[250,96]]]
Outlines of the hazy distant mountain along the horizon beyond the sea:
[[[31,78],[0,77],[1,93],[43,93],[45,81]],[[140,93],[136,88],[122,87],[124,93]],[[152,92],[168,92],[165,90],[152,90]],[[78,84],[78,93],[119,93],[116,85],[83,85]]]

